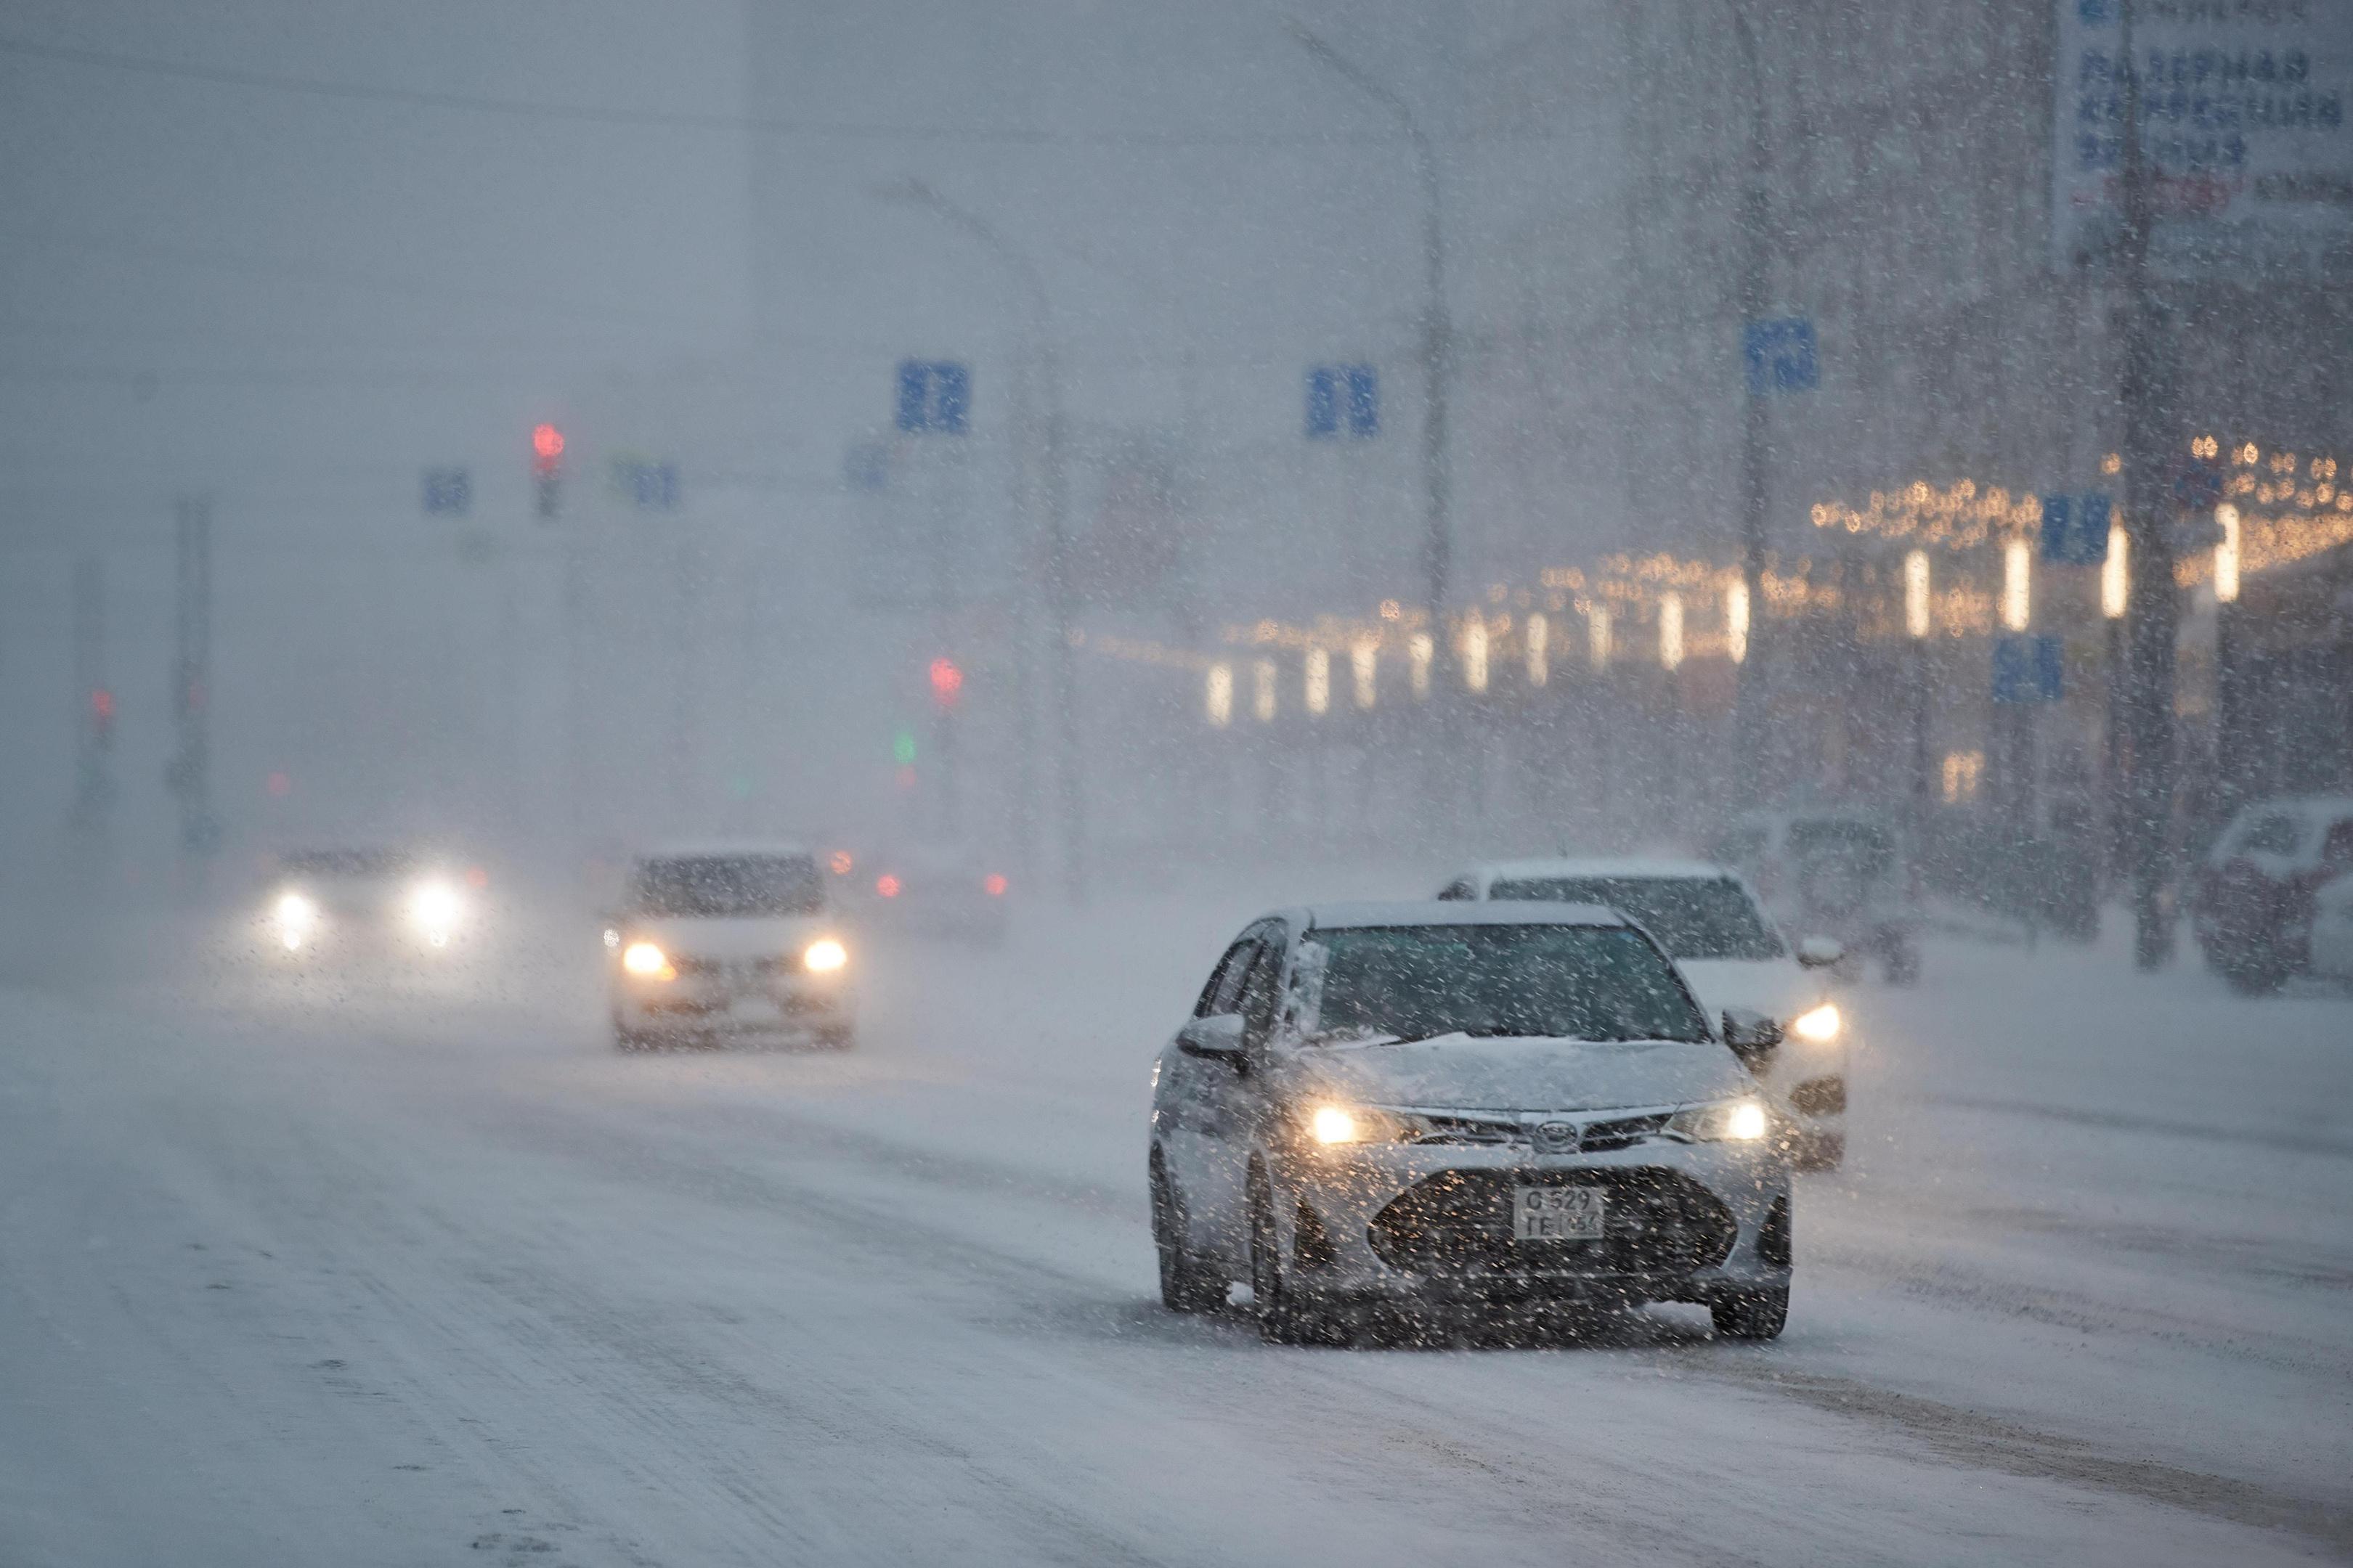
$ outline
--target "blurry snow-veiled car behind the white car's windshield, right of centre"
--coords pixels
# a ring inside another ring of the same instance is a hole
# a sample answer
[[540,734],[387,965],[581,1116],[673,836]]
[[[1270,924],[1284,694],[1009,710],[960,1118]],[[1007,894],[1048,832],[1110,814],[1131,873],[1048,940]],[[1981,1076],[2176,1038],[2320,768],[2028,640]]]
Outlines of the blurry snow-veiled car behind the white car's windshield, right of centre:
[[1854,809],[1751,811],[1704,853],[1748,877],[1784,929],[1878,959],[1889,985],[1920,978],[1918,877],[1894,823]]

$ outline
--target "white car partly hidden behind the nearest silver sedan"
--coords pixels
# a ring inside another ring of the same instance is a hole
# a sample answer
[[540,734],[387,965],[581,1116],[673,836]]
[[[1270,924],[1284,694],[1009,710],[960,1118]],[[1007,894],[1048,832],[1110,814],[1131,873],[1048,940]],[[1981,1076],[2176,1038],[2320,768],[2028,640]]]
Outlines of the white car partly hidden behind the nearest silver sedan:
[[1704,860],[1501,860],[1473,865],[1440,898],[1598,903],[1649,931],[1711,1016],[1765,1013],[1788,1046],[1760,1074],[1798,1126],[1800,1168],[1828,1171],[1847,1154],[1852,1023],[1831,997],[1838,943],[1791,947],[1739,875]]

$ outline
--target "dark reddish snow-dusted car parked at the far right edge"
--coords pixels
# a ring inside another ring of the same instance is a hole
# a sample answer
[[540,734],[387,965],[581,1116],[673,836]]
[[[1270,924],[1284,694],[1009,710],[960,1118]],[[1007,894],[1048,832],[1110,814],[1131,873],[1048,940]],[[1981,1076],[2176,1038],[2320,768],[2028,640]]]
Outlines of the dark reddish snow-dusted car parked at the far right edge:
[[[2191,889],[2191,929],[2207,966],[2249,997],[2313,969],[2318,893],[2346,875],[2353,875],[2353,797],[2240,809]],[[2334,961],[2334,952],[2327,957]]]

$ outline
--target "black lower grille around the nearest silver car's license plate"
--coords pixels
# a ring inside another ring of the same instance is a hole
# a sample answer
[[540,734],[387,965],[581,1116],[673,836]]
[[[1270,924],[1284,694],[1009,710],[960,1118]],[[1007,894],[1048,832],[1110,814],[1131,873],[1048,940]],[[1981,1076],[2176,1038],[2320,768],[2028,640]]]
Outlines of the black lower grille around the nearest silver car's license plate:
[[[1602,1187],[1602,1239],[1513,1241],[1513,1187]],[[1739,1225],[1680,1171],[1442,1171],[1391,1199],[1367,1239],[1381,1262],[1414,1274],[1682,1276],[1729,1258]]]

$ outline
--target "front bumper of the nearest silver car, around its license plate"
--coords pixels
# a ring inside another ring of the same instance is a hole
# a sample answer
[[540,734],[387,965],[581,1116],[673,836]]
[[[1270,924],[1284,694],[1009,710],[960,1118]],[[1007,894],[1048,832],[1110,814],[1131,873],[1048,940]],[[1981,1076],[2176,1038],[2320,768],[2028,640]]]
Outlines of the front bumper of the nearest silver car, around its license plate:
[[[1513,1241],[1518,1187],[1602,1187],[1595,1241]],[[1344,1145],[1278,1159],[1285,1276],[1322,1302],[1692,1300],[1786,1288],[1791,1178],[1758,1145]]]

